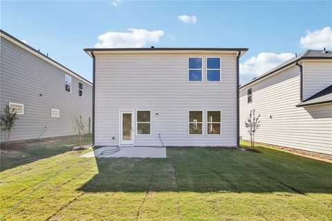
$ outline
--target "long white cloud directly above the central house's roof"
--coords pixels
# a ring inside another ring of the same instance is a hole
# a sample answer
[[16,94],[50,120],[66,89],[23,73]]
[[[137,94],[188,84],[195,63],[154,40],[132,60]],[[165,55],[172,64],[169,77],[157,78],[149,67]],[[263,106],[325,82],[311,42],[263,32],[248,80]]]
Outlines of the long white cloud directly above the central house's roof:
[[96,48],[141,48],[147,42],[158,43],[164,35],[163,30],[129,28],[128,33],[107,32],[98,37]]

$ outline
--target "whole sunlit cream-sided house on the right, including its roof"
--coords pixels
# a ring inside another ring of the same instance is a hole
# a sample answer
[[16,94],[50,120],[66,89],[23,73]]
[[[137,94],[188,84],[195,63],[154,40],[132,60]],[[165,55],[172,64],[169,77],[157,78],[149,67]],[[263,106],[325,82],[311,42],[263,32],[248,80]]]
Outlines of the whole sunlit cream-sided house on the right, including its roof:
[[240,88],[240,135],[250,110],[261,114],[255,140],[332,154],[332,52],[308,50]]

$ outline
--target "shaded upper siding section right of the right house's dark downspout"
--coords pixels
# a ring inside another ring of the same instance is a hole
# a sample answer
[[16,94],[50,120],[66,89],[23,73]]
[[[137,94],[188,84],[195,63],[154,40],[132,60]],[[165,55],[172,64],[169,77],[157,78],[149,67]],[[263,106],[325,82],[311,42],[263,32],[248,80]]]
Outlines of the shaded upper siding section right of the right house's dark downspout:
[[332,62],[303,62],[303,99],[332,85]]

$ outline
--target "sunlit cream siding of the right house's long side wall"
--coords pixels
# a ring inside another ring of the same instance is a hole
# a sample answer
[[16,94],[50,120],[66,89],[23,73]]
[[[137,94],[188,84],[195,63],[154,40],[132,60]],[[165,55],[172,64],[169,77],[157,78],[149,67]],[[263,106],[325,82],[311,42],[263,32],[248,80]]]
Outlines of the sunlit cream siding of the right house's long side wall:
[[[250,87],[252,103],[247,103]],[[261,114],[256,141],[332,154],[332,105],[296,107],[299,102],[299,67],[296,66],[241,88],[241,138],[250,139],[245,121],[250,109],[255,109],[256,114]]]

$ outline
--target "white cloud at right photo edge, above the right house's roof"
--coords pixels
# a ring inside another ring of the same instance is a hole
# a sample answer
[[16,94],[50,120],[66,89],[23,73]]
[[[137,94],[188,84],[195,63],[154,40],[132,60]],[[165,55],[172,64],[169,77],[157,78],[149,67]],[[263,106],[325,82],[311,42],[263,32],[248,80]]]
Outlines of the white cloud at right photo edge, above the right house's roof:
[[320,49],[332,48],[332,28],[325,27],[321,30],[306,30],[306,36],[299,40],[301,48]]

